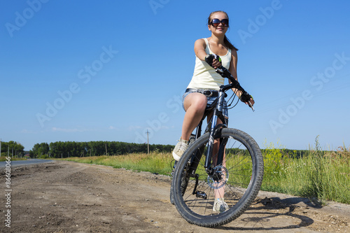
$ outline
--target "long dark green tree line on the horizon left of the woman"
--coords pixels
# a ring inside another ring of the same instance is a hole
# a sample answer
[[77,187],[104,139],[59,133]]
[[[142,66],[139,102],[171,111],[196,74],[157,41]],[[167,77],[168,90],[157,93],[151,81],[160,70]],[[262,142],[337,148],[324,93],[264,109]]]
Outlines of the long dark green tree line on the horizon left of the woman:
[[[159,153],[172,152],[172,145],[149,145],[149,151]],[[146,143],[125,143],[120,141],[57,141],[52,143],[36,143],[29,151],[30,157],[87,157],[99,155],[126,155],[130,153],[148,153]]]

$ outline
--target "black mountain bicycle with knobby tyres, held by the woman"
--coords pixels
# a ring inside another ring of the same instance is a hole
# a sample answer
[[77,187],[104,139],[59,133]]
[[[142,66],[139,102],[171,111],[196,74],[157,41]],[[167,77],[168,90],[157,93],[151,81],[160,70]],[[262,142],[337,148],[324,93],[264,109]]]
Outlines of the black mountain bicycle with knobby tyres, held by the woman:
[[[212,62],[214,58],[207,55],[206,61]],[[195,133],[191,134],[188,149],[174,165],[170,189],[170,201],[181,216],[188,223],[202,227],[218,227],[241,216],[258,195],[264,174],[258,143],[245,132],[228,128],[228,119],[223,116],[223,101],[228,97],[228,90],[239,91],[239,99],[254,111],[249,102],[251,95],[223,66],[216,72],[228,78],[230,84],[221,86],[218,98],[206,109]],[[235,97],[233,93],[228,106]],[[211,113],[201,135],[203,120]],[[218,118],[223,124],[216,125]],[[227,204],[223,211],[213,209],[218,195]]]

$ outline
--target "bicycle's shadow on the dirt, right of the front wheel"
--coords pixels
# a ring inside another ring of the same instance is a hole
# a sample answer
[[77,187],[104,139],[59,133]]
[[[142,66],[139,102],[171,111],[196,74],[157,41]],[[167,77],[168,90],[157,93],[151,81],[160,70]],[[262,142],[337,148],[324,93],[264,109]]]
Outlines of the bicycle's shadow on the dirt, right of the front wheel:
[[[300,204],[302,202],[302,204]],[[258,199],[239,218],[221,230],[290,230],[307,227],[314,223],[312,218],[303,215],[303,209],[321,208],[317,202],[301,197],[280,199],[279,197]],[[298,209],[298,211],[296,211]],[[305,212],[306,213],[306,212]]]

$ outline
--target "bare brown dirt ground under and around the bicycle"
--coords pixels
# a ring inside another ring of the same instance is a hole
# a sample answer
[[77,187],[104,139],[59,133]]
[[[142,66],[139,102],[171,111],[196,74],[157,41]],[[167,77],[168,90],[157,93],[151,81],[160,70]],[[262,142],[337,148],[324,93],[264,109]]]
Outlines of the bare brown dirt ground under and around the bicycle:
[[[11,171],[0,232],[350,232],[350,206],[260,192],[241,217],[216,230],[190,225],[169,202],[170,178],[92,164],[51,162]],[[5,172],[1,170],[5,190]]]

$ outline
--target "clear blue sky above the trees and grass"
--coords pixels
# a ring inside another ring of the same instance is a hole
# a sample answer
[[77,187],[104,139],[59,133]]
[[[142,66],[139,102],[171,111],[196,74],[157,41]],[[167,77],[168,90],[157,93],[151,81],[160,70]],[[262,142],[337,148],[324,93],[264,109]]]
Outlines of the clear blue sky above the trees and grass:
[[0,139],[174,145],[207,17],[225,10],[261,148],[350,144],[349,1],[1,1]]

